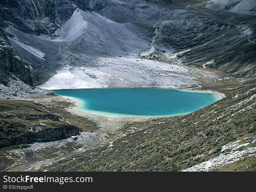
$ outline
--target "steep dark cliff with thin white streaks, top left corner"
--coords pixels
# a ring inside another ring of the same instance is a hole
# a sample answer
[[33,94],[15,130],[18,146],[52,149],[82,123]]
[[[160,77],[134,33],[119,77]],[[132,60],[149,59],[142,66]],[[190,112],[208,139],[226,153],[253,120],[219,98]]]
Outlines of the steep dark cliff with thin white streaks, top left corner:
[[0,26],[6,28],[11,24],[24,33],[50,35],[77,7],[91,10],[89,3],[89,0],[3,0]]

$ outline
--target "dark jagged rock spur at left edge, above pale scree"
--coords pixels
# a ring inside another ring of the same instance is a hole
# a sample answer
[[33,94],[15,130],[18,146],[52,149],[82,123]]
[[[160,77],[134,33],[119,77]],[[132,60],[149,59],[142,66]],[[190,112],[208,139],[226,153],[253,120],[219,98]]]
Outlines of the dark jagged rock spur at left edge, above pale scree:
[[13,73],[20,80],[32,86],[29,66],[13,50],[5,32],[0,28],[0,82],[2,84],[8,83],[9,73]]

